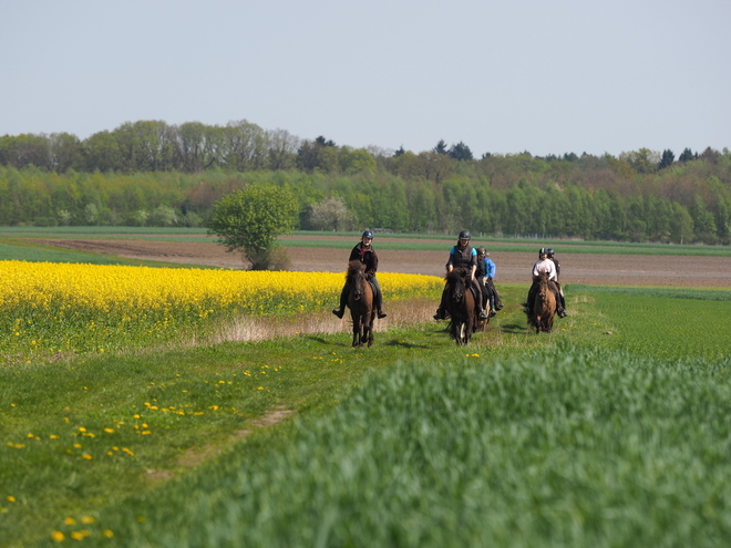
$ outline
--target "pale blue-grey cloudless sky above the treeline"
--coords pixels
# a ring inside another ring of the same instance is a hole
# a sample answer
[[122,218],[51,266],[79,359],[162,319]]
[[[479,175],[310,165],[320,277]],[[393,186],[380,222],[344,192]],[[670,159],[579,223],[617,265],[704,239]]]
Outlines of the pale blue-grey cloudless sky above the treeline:
[[728,0],[0,0],[0,136],[246,120],[414,153],[731,148]]

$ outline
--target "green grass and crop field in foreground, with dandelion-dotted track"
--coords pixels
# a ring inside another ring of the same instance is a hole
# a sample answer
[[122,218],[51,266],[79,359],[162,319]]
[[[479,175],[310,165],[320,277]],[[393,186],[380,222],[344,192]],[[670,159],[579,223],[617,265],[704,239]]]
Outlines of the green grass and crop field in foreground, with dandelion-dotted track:
[[538,337],[525,289],[466,349],[414,321],[11,359],[0,546],[722,546],[731,291],[574,286]]

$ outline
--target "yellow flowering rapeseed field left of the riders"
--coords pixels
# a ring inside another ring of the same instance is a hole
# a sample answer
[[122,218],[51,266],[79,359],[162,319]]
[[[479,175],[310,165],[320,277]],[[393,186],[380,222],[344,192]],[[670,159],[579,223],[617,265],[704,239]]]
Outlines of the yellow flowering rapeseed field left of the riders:
[[[175,340],[237,316],[337,304],[343,273],[0,261],[0,353],[104,351]],[[388,299],[433,297],[443,280],[379,273]]]

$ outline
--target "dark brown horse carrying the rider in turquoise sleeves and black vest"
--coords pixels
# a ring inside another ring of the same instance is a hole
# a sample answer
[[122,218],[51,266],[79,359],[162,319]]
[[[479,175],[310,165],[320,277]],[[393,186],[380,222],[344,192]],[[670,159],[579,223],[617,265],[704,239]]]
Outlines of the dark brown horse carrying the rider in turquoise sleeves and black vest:
[[449,331],[457,347],[469,344],[472,333],[483,325],[471,286],[469,269],[455,268],[446,273],[446,313],[451,320]]

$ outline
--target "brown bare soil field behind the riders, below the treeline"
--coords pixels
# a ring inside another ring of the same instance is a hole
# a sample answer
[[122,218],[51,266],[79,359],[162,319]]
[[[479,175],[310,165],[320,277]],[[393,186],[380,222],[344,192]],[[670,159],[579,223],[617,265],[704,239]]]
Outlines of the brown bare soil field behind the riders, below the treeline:
[[[358,239],[322,236],[321,239],[351,241]],[[308,239],[312,239],[308,237]],[[398,241],[397,238],[379,238],[381,241]],[[200,241],[151,241],[134,239],[35,239],[38,244],[99,254],[117,255],[131,259],[162,260],[186,265],[206,265],[222,268],[244,269],[243,256],[226,252],[212,238]],[[428,240],[421,240],[428,241]],[[440,240],[435,240],[440,241]],[[443,242],[443,240],[441,240]],[[490,251],[490,242],[484,245]],[[443,276],[444,265],[452,244],[444,242],[444,251],[379,250],[379,271]],[[286,246],[286,241],[285,241]],[[526,246],[525,252],[491,251],[497,273],[495,281],[503,283],[528,283],[531,269],[537,259],[536,249]],[[286,247],[290,259],[289,270],[309,272],[344,272],[349,252],[344,249]],[[562,254],[563,283],[589,283],[606,286],[671,286],[671,287],[731,287],[731,261],[722,257],[682,256],[622,256]]]

